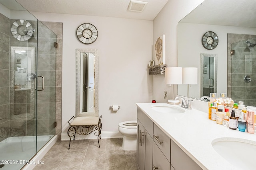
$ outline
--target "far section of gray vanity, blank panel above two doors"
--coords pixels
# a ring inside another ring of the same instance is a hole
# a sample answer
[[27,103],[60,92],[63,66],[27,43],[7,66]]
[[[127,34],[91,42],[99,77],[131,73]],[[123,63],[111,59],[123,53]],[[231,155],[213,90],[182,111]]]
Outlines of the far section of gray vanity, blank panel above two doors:
[[137,111],[137,168],[151,170],[153,160],[153,122],[140,110]]

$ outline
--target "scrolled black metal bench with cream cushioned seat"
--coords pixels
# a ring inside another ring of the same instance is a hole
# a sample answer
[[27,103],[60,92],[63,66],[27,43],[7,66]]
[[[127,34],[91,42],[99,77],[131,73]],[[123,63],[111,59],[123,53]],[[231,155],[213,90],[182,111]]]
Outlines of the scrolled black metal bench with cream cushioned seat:
[[[73,140],[75,140],[76,133],[78,133],[79,135],[89,135],[94,131],[95,131],[94,135],[98,136],[98,144],[100,148],[99,138],[101,139],[100,137],[101,127],[102,127],[101,117],[102,116],[71,117],[71,119],[69,119],[68,121],[68,124],[69,124],[68,137],[70,139],[68,149],[70,149],[71,137],[74,136]],[[73,121],[70,123],[71,120]]]

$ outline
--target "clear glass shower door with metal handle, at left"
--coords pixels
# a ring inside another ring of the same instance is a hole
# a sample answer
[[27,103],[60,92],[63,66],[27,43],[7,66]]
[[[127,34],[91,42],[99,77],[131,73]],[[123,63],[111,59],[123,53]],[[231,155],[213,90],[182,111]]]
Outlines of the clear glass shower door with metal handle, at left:
[[37,146],[40,150],[55,135],[56,34],[38,21],[37,41]]

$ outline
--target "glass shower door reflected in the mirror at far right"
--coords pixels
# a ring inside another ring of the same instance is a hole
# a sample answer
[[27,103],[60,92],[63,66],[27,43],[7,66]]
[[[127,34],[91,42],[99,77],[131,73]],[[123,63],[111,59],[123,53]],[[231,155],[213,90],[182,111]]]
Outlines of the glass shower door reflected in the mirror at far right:
[[231,52],[231,98],[255,106],[256,37],[232,43]]

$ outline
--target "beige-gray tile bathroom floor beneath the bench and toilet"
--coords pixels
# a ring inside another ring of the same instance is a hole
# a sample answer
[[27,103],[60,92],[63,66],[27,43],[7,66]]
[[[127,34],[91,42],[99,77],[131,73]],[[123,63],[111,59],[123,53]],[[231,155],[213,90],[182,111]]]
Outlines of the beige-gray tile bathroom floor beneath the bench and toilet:
[[136,151],[122,150],[122,138],[57,141],[33,170],[137,170]]

